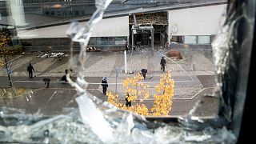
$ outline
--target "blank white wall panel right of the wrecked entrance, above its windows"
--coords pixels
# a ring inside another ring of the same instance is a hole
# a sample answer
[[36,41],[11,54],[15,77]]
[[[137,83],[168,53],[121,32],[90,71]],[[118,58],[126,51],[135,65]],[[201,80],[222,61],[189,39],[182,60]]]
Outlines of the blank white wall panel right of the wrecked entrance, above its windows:
[[[203,6],[182,10],[169,10],[168,35],[211,35],[217,34],[225,5]],[[178,27],[176,34],[173,27]]]

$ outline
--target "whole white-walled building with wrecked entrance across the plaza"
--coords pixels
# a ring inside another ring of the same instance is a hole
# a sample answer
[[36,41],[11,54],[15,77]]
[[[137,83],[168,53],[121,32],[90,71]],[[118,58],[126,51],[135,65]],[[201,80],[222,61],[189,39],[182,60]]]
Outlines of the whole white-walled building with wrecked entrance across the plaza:
[[[25,0],[18,3],[6,0],[6,9],[9,10],[14,5],[23,6],[24,10],[18,9],[17,13],[24,13],[23,17],[18,18],[13,12],[6,14],[6,17],[14,18],[15,23],[20,22],[19,25],[10,26],[16,27],[17,36],[26,50],[69,50],[71,42],[66,30],[70,22],[78,21],[84,25],[95,10],[94,1],[91,0]],[[220,27],[225,6],[226,0],[114,0],[106,10],[103,20],[94,27],[89,46],[103,50],[117,47],[124,49],[126,41],[132,42],[133,25],[153,26],[154,44],[162,46],[166,42],[210,44]],[[3,6],[0,10],[4,10]],[[6,17],[0,18],[0,23],[4,23],[3,19]],[[9,24],[10,22],[7,25]],[[135,46],[150,45],[150,31],[137,30],[136,33]],[[78,43],[74,42],[72,45],[74,50],[79,50]]]

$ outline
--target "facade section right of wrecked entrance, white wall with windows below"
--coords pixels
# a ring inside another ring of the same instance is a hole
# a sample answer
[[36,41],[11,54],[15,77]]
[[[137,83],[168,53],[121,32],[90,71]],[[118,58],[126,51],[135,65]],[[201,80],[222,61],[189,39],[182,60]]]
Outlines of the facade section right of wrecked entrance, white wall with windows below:
[[209,44],[221,26],[226,5],[168,10],[168,42]]

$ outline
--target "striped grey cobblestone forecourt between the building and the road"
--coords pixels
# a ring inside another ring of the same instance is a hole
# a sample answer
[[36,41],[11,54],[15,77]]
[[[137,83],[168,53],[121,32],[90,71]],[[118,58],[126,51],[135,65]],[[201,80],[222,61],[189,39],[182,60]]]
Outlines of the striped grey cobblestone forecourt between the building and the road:
[[[148,76],[160,76],[162,74],[160,70],[160,59],[167,51],[152,52],[138,51],[138,54],[127,54],[127,69],[134,71],[134,74],[140,72],[140,70],[147,69]],[[193,74],[214,74],[214,64],[206,58],[203,54],[185,50],[182,52],[182,60],[173,60],[166,58],[166,70],[171,70],[173,76],[188,76]],[[163,55],[162,55],[163,54]],[[28,76],[26,67],[31,62],[34,66],[34,75],[46,76],[46,77],[62,77],[65,74],[66,69],[70,69],[70,62],[68,58],[64,61],[56,61],[54,58],[38,58],[37,54],[22,54],[18,55],[14,61],[10,63],[12,76]],[[85,59],[85,71],[86,77],[115,77],[116,68],[118,67],[118,76],[127,77],[129,75],[124,74],[124,54],[123,52],[98,52],[87,53]],[[77,73],[75,68],[74,76]],[[6,73],[6,70],[0,71],[0,76]]]

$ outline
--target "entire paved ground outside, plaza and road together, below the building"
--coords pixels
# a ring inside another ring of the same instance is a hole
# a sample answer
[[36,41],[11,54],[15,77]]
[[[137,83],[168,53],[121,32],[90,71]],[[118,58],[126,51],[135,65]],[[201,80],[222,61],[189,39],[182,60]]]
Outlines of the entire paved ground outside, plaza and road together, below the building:
[[[160,59],[166,54],[167,50],[154,51],[134,51],[131,55],[127,54],[128,70],[134,71],[134,74],[145,68],[148,70],[146,79],[150,85],[150,99],[146,100],[147,106],[152,105],[154,100],[154,82],[159,82],[161,75]],[[19,108],[29,108],[31,112],[35,112],[38,108],[44,107],[45,114],[57,114],[63,106],[77,106],[74,102],[75,90],[69,84],[60,82],[61,77],[65,74],[64,70],[73,69],[72,78],[75,80],[76,69],[70,66],[69,59],[57,61],[54,58],[38,58],[37,53],[17,55],[11,62],[12,81],[15,87],[31,89],[33,92],[25,94],[19,98],[15,98],[8,102],[4,100],[2,105],[13,105]],[[183,50],[183,59],[174,60],[166,58],[166,70],[171,70],[172,78],[174,78],[174,102],[171,110],[172,115],[188,114],[194,103],[203,95],[212,93],[214,87],[214,65],[207,56],[198,52],[198,50]],[[184,57],[185,56],[185,57]],[[34,66],[34,78],[28,78],[26,66],[29,63]],[[134,74],[124,74],[124,54],[123,52],[94,52],[86,54],[86,81],[89,82],[87,91],[94,94],[102,100],[106,100],[106,96],[102,94],[102,86],[100,82],[102,77],[107,77],[109,82],[108,90],[115,91],[117,89],[120,98],[123,100],[122,80],[132,77]],[[116,79],[116,68],[118,67],[118,78]],[[1,71],[0,87],[8,87],[8,79],[5,71]],[[46,89],[42,78],[49,77],[51,79],[50,88]],[[117,82],[117,85],[116,85]],[[54,98],[51,97],[54,95]],[[31,98],[31,100],[30,100]],[[29,99],[29,100],[28,100]],[[16,102],[17,101],[17,102]],[[72,102],[71,102],[72,101]],[[207,111],[207,110],[205,110]],[[210,114],[210,113],[209,113]]]

